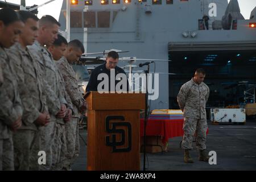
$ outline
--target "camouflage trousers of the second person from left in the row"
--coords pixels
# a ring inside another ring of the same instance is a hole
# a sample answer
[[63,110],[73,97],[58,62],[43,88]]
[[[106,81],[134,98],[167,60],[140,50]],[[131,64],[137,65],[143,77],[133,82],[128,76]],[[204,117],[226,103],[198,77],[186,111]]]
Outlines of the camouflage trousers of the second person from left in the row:
[[15,170],[38,170],[39,132],[18,130],[13,135]]

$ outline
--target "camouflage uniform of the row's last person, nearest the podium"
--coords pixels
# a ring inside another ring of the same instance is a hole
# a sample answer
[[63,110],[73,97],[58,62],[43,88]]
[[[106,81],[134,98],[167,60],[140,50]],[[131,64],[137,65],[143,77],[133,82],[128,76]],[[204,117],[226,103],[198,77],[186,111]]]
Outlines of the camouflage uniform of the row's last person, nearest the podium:
[[77,84],[75,71],[73,70],[72,65],[68,63],[68,60],[65,57],[62,57],[57,61],[57,67],[63,75],[65,88],[73,104],[72,121],[66,124],[68,148],[66,167],[68,167],[68,165],[72,164],[76,157],[79,156],[79,109],[84,104],[85,100],[82,97],[79,85]]

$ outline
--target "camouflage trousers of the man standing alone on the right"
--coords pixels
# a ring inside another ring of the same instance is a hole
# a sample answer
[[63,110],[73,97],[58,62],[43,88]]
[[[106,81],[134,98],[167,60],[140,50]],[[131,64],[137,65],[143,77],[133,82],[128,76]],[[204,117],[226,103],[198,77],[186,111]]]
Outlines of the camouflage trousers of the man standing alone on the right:
[[[206,132],[207,132],[207,119],[192,119],[184,118],[183,124],[183,149],[192,150],[193,137],[196,137],[196,147],[199,150],[204,150],[206,148]],[[196,135],[196,136],[195,136]]]

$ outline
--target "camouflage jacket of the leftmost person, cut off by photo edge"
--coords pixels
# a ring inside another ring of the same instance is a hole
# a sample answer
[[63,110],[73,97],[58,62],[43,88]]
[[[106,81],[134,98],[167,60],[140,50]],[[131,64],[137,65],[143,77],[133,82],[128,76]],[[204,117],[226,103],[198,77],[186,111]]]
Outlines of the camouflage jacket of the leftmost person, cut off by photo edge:
[[0,47],[0,64],[2,67],[3,82],[0,84],[0,139],[11,136],[10,125],[22,117],[22,102],[18,93],[18,82],[10,59]]

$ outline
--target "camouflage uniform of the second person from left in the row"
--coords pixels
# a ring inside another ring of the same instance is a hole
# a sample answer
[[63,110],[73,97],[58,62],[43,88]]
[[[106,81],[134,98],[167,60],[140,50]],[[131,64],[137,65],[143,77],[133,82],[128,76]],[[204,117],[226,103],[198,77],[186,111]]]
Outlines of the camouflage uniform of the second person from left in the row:
[[[38,63],[31,53],[16,43],[8,50],[11,64],[19,82],[19,95],[23,104],[22,127],[14,134],[14,162],[17,170],[39,169],[38,152],[40,148],[39,130],[35,120],[40,113],[48,113],[48,103],[55,105],[55,94],[43,78]],[[44,89],[42,89],[44,87]]]

